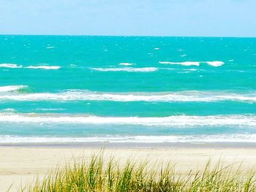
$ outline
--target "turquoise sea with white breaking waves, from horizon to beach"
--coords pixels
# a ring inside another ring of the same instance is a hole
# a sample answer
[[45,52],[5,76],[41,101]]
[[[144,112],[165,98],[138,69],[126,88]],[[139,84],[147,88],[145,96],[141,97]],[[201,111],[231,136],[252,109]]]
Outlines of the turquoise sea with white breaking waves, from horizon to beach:
[[0,36],[0,142],[256,142],[256,38]]

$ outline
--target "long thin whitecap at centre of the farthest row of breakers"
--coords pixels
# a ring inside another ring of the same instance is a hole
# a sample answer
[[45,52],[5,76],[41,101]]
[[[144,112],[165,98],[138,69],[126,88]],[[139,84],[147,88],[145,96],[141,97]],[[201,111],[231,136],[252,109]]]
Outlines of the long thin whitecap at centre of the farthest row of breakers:
[[122,67],[122,68],[90,68],[100,72],[155,72],[157,67]]

